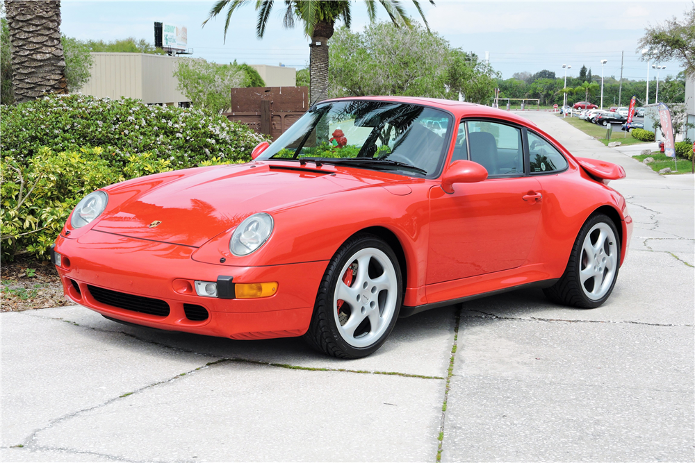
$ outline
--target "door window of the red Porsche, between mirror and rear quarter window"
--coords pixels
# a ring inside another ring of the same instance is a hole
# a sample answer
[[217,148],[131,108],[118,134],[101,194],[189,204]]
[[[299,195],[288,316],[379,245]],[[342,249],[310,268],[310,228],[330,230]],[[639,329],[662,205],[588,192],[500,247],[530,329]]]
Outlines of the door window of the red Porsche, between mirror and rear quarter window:
[[521,130],[504,124],[468,121],[471,160],[487,169],[488,176],[523,174]]

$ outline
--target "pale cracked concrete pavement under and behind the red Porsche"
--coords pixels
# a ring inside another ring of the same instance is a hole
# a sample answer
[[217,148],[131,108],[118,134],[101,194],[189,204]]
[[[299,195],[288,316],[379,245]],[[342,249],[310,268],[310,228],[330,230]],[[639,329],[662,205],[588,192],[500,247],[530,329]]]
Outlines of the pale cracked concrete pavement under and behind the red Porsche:
[[524,116],[628,172],[611,185],[635,233],[601,308],[493,296],[401,319],[352,361],[79,306],[6,312],[0,460],[434,462],[442,426],[444,462],[695,460],[694,177],[659,176],[553,114]]

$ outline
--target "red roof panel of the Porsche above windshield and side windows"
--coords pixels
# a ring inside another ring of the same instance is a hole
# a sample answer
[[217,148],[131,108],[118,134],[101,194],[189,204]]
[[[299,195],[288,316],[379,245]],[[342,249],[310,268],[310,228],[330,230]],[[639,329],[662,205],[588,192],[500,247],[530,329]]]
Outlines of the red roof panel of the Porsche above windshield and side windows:
[[441,110],[451,112],[457,119],[461,119],[462,117],[490,117],[493,119],[502,119],[510,122],[515,122],[517,124],[525,126],[536,127],[536,124],[534,124],[529,119],[525,119],[521,116],[518,116],[513,112],[500,110],[497,108],[491,108],[489,106],[479,105],[475,103],[468,103],[466,101],[445,100],[439,98],[424,98],[420,96],[349,96],[345,98],[334,98],[324,100],[320,101],[320,103],[355,100],[393,101],[395,103],[411,103],[416,105],[439,108]]

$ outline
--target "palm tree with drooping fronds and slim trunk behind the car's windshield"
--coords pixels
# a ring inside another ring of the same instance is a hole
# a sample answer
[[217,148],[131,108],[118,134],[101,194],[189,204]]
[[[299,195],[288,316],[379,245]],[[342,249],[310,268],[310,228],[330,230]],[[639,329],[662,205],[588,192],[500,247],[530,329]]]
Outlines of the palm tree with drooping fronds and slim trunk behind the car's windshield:
[[[219,0],[210,10],[208,19],[203,22],[203,26],[227,8],[227,17],[224,21],[224,38],[227,39],[227,29],[229,28],[229,20],[232,13],[249,3],[250,0]],[[411,26],[411,21],[406,14],[399,0],[378,0],[384,7],[389,18],[396,26]],[[273,7],[273,0],[256,0],[256,11],[258,19],[256,22],[256,35],[263,38],[266,24],[270,17],[270,11]],[[367,14],[370,21],[374,21],[377,16],[376,1],[366,0]],[[420,8],[418,0],[413,0],[415,8],[417,8],[420,16],[425,22],[427,30],[430,26],[425,19],[425,13]],[[434,0],[430,0],[434,5]],[[343,21],[345,26],[350,27],[350,8],[352,1],[350,0],[284,0],[285,15],[282,25],[286,28],[295,26],[295,19],[304,24],[304,33],[311,37],[309,44],[309,100],[311,103],[326,97],[328,90],[328,40],[333,36],[334,28],[338,20]]]

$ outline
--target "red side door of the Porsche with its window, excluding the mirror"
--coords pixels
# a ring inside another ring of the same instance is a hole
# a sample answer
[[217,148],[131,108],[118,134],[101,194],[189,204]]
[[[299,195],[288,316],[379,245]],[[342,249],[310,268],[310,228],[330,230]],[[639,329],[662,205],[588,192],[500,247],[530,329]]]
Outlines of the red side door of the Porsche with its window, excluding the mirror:
[[521,130],[489,121],[461,122],[451,162],[468,159],[488,178],[430,190],[427,285],[525,262],[539,223],[540,183],[525,172]]

